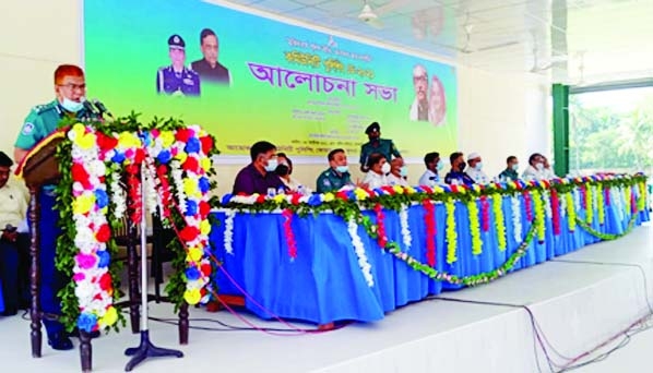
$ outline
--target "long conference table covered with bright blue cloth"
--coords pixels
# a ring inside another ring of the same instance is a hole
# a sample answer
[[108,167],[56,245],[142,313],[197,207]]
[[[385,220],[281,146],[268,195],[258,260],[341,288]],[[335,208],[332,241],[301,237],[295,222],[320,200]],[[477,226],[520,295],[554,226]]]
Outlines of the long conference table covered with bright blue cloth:
[[[579,191],[574,190],[573,193]],[[632,193],[637,193],[637,188],[632,188]],[[626,203],[624,193],[620,194],[621,197],[618,197],[619,193],[612,193],[612,203],[607,205],[604,202],[601,206],[604,208],[604,221],[601,224],[597,218],[593,219],[591,227],[595,230],[594,233],[580,225],[571,231],[569,216],[562,212],[558,215],[560,229],[556,234],[550,208],[547,207],[544,240],[533,239],[526,246],[525,254],[510,272],[527,268],[598,242],[601,239],[596,232],[620,236],[649,220],[648,206],[634,212]],[[532,198],[527,197],[525,201],[523,193],[517,193],[515,196],[519,198],[520,214],[513,214],[515,202],[512,196],[501,197],[506,249],[498,249],[496,229],[480,230],[483,250],[476,254],[472,250],[467,205],[461,201],[455,202],[458,260],[451,264],[447,261],[447,209],[443,203],[435,202],[436,257],[432,267],[438,272],[464,277],[488,273],[503,265],[524,240],[518,240],[515,229],[525,237],[533,224],[529,220],[533,206],[527,212],[525,205],[526,202],[532,204]],[[578,204],[579,195],[574,195],[574,198]],[[619,198],[621,201],[617,201]],[[482,212],[480,201],[476,203]],[[361,213],[375,220],[373,210]],[[577,213],[579,220],[585,219],[582,208]],[[411,237],[407,245],[405,230],[402,233],[400,213],[383,210],[388,239],[397,242],[402,252],[422,263],[427,263],[425,214],[426,209],[422,204],[414,203],[407,207]],[[519,222],[514,219],[515,215],[521,216]],[[594,217],[596,216],[598,205],[594,208]],[[218,293],[242,297],[246,292],[245,306],[262,318],[280,316],[316,324],[345,320],[373,322],[409,302],[462,287],[430,279],[413,269],[381,249],[378,240],[371,238],[363,226],[358,226],[358,237],[371,266],[373,284],[370,285],[361,272],[359,255],[354,249],[347,222],[330,212],[295,216],[290,220],[296,242],[294,257],[288,255],[287,226],[284,226],[288,221],[287,216],[281,210],[252,213],[244,208],[221,208],[214,212],[214,217],[218,224],[213,227],[211,241],[214,255],[222,263],[222,268],[215,272]],[[490,227],[495,226],[495,218],[490,208]],[[518,227],[520,222],[521,227]]]

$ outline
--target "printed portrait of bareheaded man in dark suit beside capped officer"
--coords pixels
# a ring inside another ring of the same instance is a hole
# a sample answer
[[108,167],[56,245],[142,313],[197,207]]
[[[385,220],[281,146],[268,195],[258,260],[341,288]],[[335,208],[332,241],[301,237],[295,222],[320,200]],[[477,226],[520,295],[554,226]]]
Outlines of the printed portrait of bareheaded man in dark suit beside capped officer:
[[203,59],[190,64],[191,69],[200,74],[202,83],[215,83],[229,85],[231,76],[229,70],[218,62],[219,40],[211,28],[204,28],[200,33],[200,48]]

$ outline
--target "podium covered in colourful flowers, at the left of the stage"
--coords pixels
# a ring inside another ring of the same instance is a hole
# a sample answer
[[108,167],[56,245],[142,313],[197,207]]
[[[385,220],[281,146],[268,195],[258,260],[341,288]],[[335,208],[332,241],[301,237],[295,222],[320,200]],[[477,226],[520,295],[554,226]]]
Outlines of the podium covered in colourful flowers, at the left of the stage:
[[[168,244],[175,251],[176,269],[166,291],[180,310],[180,341],[188,340],[188,304],[206,302],[211,293],[212,265],[209,260],[211,210],[209,198],[214,184],[211,156],[214,139],[198,125],[154,120],[142,124],[135,115],[112,122],[63,123],[41,141],[22,161],[16,173],[23,177],[33,198],[31,219],[38,220],[37,194],[45,184],[55,184],[61,236],[57,240],[57,268],[70,277],[59,292],[68,330],[81,334],[82,369],[91,370],[88,333],[118,330],[124,324],[117,310],[122,296],[118,284],[121,263],[115,261],[114,232],[124,222],[134,228],[146,213],[157,213],[164,226],[177,233]],[[141,180],[147,191],[141,203]],[[130,241],[133,249],[135,229]],[[32,245],[32,350],[40,357],[38,302],[38,231]],[[129,249],[129,248],[128,248]],[[130,299],[132,329],[138,324],[135,251],[130,254]],[[146,291],[146,289],[142,289]],[[135,320],[134,320],[135,318]],[[136,329],[138,330],[138,329]]]

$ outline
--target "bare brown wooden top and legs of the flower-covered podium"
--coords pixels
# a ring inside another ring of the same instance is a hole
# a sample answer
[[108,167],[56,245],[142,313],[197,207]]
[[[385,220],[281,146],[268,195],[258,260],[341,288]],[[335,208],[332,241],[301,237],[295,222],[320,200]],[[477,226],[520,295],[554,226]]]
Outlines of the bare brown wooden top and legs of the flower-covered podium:
[[[56,133],[57,134],[57,133]],[[50,136],[47,143],[39,144],[31,154],[26,156],[22,167],[22,177],[31,194],[28,219],[32,227],[32,244],[29,246],[31,268],[29,268],[29,292],[32,296],[31,317],[31,344],[32,357],[41,357],[43,332],[41,321],[57,320],[59,315],[44,314],[40,306],[40,232],[38,221],[40,219],[39,196],[44,185],[57,184],[60,179],[59,165],[56,153],[57,146],[64,141],[66,132],[59,132],[60,135]],[[127,202],[130,206],[130,202]],[[136,224],[129,221],[127,237],[128,254],[128,276],[129,276],[129,299],[123,302],[116,302],[116,306],[127,305],[130,310],[130,323],[132,333],[140,332],[140,289],[139,289],[139,256],[136,253],[138,229]],[[147,291],[144,289],[144,291]],[[188,344],[189,321],[188,304],[183,304],[179,310],[179,342]],[[80,358],[83,372],[92,371],[92,346],[88,333],[80,330]]]

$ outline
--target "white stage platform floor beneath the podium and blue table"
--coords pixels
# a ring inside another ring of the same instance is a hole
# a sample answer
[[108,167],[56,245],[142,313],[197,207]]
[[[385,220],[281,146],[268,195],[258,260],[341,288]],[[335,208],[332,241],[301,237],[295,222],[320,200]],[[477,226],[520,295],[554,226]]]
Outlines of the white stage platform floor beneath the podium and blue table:
[[[652,290],[653,227],[645,224],[619,240],[585,246],[492,284],[409,304],[378,323],[294,336],[193,328],[190,345],[180,347],[185,358],[149,360],[134,372],[550,372],[522,305],[539,325],[549,357],[563,365],[567,360],[560,354],[572,358],[591,350],[649,314],[645,292],[653,299]],[[168,304],[152,303],[150,309],[151,316],[174,317]],[[260,327],[286,328],[277,322],[244,316]],[[198,318],[247,327],[226,311],[191,310],[191,326],[224,330],[217,323]],[[179,348],[175,325],[150,325],[156,345]],[[32,359],[28,329],[28,321],[20,316],[0,317],[3,372],[80,370],[76,350],[61,352],[44,346],[43,358]],[[605,368],[610,364],[620,373],[650,372],[653,330],[632,339],[633,345],[640,342],[578,372],[613,372]],[[78,346],[78,340],[73,341]],[[621,341],[616,338],[579,362]],[[94,371],[123,371],[128,361],[123,350],[136,344],[138,336],[128,328],[94,340]],[[614,360],[624,359],[620,356],[629,357],[628,361],[614,365]]]

